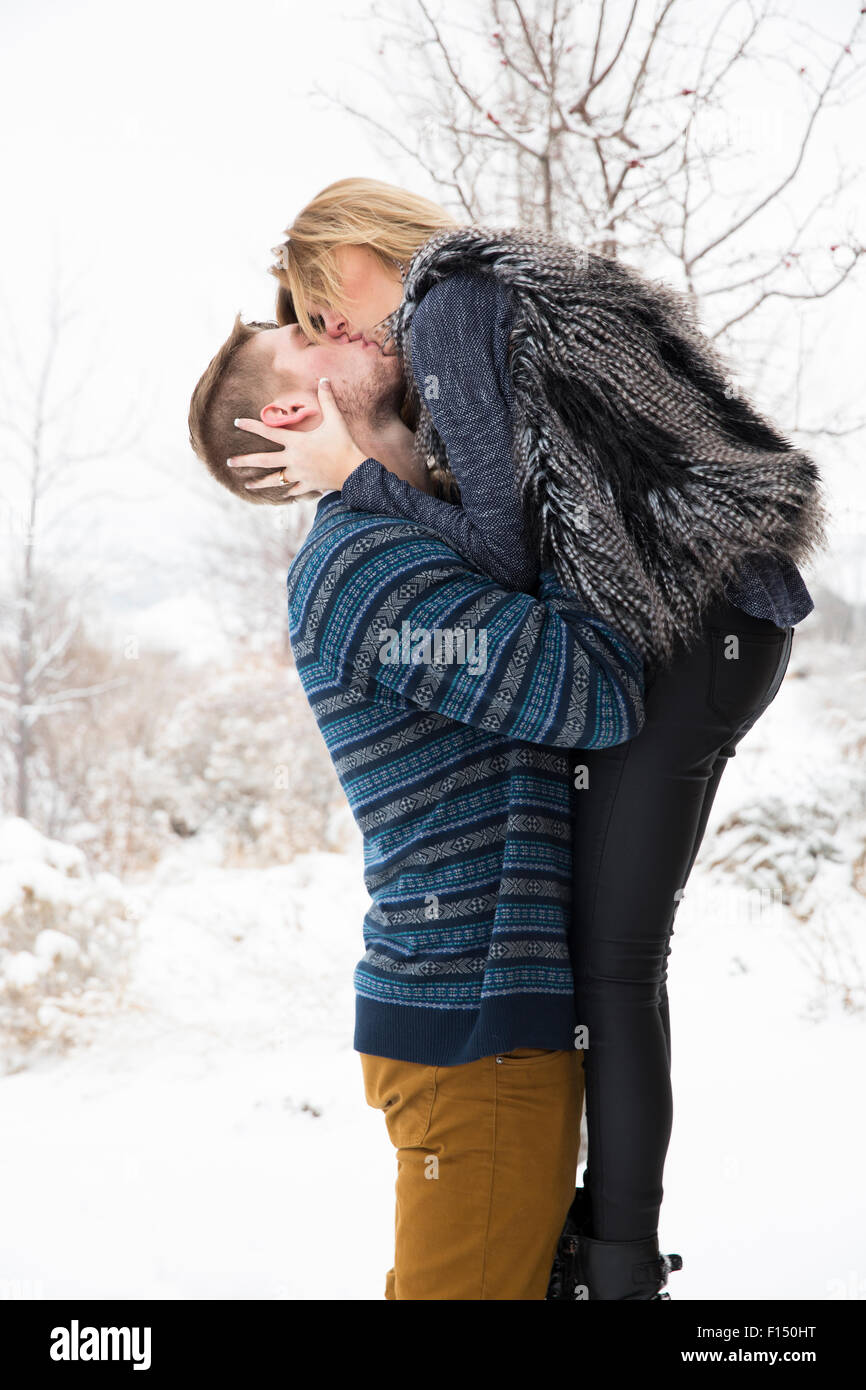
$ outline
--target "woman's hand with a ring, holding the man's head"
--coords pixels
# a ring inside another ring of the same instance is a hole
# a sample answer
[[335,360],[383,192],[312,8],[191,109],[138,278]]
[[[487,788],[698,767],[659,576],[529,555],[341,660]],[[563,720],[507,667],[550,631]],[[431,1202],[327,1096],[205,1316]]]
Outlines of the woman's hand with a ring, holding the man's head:
[[318,406],[322,414],[321,424],[316,430],[303,432],[277,430],[263,424],[261,420],[235,420],[238,430],[282,445],[282,453],[245,453],[227,460],[229,468],[263,470],[261,478],[245,484],[250,492],[259,488],[284,486],[286,496],[300,498],[306,492],[327,492],[329,488],[339,491],[349,474],[364,461],[367,455],[357,448],[349,434],[349,427],[334,399],[331,382],[325,377],[318,382]]

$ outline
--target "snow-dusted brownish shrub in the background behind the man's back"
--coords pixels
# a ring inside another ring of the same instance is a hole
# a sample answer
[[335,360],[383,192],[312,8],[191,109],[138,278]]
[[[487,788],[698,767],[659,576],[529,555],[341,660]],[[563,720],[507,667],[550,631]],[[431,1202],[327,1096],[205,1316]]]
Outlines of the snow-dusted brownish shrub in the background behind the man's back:
[[92,863],[125,876],[193,837],[227,865],[345,847],[345,798],[284,657],[183,669],[142,653],[126,676],[57,739],[54,785],[71,809],[56,833]]

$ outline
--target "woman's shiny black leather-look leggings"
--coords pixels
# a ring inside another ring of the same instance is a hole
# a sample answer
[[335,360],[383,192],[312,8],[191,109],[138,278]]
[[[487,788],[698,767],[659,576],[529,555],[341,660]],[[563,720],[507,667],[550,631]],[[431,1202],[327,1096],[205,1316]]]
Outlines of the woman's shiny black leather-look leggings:
[[[671,1129],[667,956],[681,890],[735,745],[773,701],[792,628],[721,602],[646,691],[646,724],[575,752],[571,959],[598,1240],[657,1230]],[[733,641],[735,639],[735,642]],[[735,655],[734,655],[735,653]]]

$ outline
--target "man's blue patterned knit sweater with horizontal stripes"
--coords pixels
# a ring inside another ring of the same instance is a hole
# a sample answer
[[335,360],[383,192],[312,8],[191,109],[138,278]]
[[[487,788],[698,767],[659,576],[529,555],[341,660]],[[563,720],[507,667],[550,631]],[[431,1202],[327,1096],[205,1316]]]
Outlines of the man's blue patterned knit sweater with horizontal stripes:
[[324,496],[288,578],[297,673],[364,838],[354,1048],[452,1066],[574,1044],[567,749],[644,724],[634,652],[541,577]]

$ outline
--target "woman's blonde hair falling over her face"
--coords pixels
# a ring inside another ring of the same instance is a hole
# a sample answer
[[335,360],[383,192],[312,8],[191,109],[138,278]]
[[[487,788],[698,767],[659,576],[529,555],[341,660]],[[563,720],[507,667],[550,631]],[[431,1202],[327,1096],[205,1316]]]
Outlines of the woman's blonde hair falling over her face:
[[438,203],[395,183],[375,178],[343,178],[328,183],[286,228],[286,239],[274,247],[278,257],[271,275],[277,291],[277,322],[300,324],[318,342],[322,338],[307,311],[317,303],[342,309],[343,293],[336,250],[366,246],[388,270],[409,261],[435,232],[460,224]]

